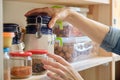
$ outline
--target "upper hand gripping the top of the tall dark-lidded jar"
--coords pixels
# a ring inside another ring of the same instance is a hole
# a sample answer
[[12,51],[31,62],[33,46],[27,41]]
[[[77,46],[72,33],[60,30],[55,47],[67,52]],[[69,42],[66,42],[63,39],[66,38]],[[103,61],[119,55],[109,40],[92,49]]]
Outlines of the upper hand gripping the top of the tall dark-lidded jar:
[[41,12],[42,13],[45,12],[52,17],[52,20],[49,22],[49,27],[52,28],[57,20],[65,20],[69,16],[70,9],[69,8],[49,8],[49,7],[36,8],[28,11],[25,14],[25,16],[38,15]]

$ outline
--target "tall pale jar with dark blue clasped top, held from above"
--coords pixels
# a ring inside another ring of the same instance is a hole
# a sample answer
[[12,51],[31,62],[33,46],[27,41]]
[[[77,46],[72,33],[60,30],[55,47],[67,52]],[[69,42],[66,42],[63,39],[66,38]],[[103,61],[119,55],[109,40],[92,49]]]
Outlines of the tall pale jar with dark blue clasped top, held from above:
[[[53,46],[53,31],[48,27],[50,20],[51,17],[46,13],[26,17],[27,26],[25,27],[24,35],[25,51],[31,49],[48,50],[49,46]],[[44,46],[41,44],[44,44]]]

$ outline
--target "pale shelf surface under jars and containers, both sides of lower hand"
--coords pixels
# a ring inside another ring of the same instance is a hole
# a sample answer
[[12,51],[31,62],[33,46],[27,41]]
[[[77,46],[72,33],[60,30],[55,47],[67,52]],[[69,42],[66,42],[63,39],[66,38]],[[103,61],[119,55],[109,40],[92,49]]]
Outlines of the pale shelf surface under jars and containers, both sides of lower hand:
[[[71,63],[71,65],[73,66],[73,68],[75,68],[75,70],[82,71],[91,67],[96,67],[105,63],[109,63],[111,61],[112,61],[112,57],[94,57],[94,58],[78,61],[75,63]],[[12,80],[33,80],[33,79],[48,80],[49,78],[46,76],[46,74],[44,74],[44,75],[32,76],[27,79],[12,79]]]

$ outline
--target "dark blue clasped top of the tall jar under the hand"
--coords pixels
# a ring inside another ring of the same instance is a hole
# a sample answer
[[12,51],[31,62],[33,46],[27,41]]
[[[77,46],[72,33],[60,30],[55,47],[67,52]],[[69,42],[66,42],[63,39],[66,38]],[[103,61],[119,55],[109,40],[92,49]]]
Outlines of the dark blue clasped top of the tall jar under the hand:
[[51,17],[47,13],[28,16],[26,34],[36,34],[37,37],[42,36],[42,34],[52,34],[52,29],[48,27],[50,20]]

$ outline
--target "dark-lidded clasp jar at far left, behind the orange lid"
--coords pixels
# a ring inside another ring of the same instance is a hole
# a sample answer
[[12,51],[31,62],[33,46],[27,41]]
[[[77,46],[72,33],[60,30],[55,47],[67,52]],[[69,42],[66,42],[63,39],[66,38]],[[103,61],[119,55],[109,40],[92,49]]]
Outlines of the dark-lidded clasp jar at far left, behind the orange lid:
[[[23,51],[24,44],[22,42],[22,28],[16,23],[4,23],[3,31],[14,33],[14,37],[12,38],[12,45],[10,46],[10,52],[14,51]],[[6,41],[5,41],[6,42]]]

